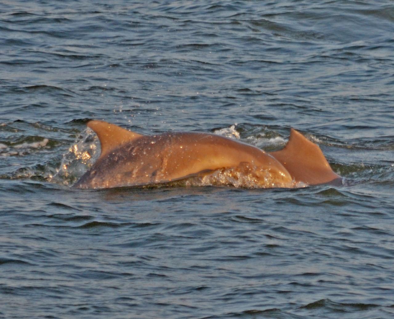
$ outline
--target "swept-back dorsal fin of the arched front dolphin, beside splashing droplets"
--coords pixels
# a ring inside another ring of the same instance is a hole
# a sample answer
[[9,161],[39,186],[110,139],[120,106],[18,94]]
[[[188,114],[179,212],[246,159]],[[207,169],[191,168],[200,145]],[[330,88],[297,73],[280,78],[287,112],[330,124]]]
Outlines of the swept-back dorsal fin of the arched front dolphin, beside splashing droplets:
[[99,136],[101,144],[100,157],[107,155],[113,149],[118,148],[123,143],[136,140],[137,138],[143,136],[104,121],[89,121],[87,122],[87,126],[95,131],[97,136]]

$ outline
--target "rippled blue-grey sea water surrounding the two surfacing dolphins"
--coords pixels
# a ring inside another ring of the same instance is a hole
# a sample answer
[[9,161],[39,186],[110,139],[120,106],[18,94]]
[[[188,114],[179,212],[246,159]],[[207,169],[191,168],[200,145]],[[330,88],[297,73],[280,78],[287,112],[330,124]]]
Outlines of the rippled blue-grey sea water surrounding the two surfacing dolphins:
[[[3,1],[0,317],[391,318],[393,34],[390,1]],[[294,127],[345,182],[76,190],[89,118]]]

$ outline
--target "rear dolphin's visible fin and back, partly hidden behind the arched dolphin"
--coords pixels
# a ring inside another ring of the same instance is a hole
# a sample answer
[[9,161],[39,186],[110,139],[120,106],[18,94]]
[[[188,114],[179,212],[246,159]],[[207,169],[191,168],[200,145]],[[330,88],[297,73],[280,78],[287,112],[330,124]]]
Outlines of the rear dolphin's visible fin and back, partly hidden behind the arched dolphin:
[[317,185],[340,178],[334,173],[321,149],[295,129],[281,151],[269,153],[288,170],[296,182]]

